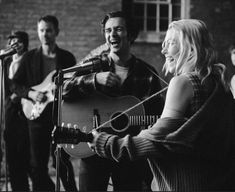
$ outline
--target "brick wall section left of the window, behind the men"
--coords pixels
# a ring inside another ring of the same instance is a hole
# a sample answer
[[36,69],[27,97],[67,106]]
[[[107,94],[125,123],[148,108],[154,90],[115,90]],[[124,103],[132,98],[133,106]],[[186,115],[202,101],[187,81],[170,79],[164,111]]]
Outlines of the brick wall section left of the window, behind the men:
[[1,0],[0,49],[12,30],[25,30],[30,48],[39,45],[37,20],[45,14],[60,22],[58,44],[79,60],[103,42],[100,20],[110,10],[121,9],[120,0]]

